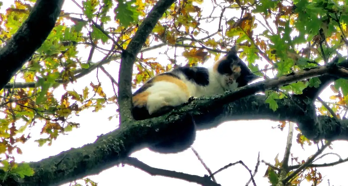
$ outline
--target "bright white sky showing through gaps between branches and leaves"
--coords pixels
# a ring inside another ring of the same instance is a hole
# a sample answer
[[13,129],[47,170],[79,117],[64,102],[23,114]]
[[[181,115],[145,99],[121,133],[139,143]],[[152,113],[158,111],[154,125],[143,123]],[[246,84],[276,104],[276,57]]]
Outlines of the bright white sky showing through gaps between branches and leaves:
[[[81,5],[81,1],[78,1]],[[4,12],[14,0],[3,1],[4,5],[1,7],[1,11]],[[207,1],[201,5],[204,7],[204,14],[209,14],[211,12],[212,6],[211,2]],[[82,13],[81,10],[71,1],[65,0],[63,10],[65,12]],[[221,11],[215,10],[216,15],[220,15]],[[240,11],[237,13],[228,11],[224,15],[235,15],[240,16]],[[233,16],[230,16],[233,17]],[[111,16],[113,19],[113,16]],[[201,26],[207,29],[210,33],[213,33],[217,29],[218,23],[206,24],[204,21],[201,22]],[[259,25],[259,24],[258,24]],[[260,25],[261,26],[261,25]],[[105,28],[107,28],[105,26]],[[263,28],[261,26],[258,31],[262,32]],[[257,34],[254,31],[254,34]],[[205,36],[205,35],[204,35]],[[203,37],[204,37],[203,36]],[[200,37],[197,37],[200,38]],[[103,46],[103,48],[110,48],[109,46]],[[159,55],[158,52],[164,52],[163,47],[158,51],[151,51],[145,53],[144,57],[158,57],[156,61],[164,60],[163,64],[167,63],[165,55]],[[84,46],[79,47],[78,56],[82,57],[82,60],[86,60],[88,57],[89,48],[85,49]],[[181,52],[177,52],[181,55]],[[92,61],[96,62],[101,60],[102,54],[95,54]],[[173,57],[173,56],[172,56]],[[178,58],[179,63],[184,61],[182,58]],[[209,60],[204,64],[208,66],[212,64],[212,60]],[[258,61],[261,64],[266,64],[265,61]],[[118,79],[118,63],[111,62],[109,65],[104,65],[105,69],[115,78]],[[110,79],[102,72],[99,71],[98,77],[102,82],[102,87],[104,92],[110,96],[113,95],[113,90],[111,86]],[[96,70],[89,73],[85,77],[79,79],[77,83],[73,86],[68,86],[68,90],[76,90],[81,94],[82,89],[85,86],[89,86],[90,81],[97,84],[96,80]],[[55,90],[55,95],[62,95],[63,88],[59,87]],[[322,94],[321,98],[324,101],[329,101],[329,96],[332,92],[327,88]],[[40,136],[39,133],[44,123],[38,122],[35,127],[30,129],[32,138],[27,141],[24,145],[18,144],[22,149],[22,155],[16,155],[17,162],[31,162],[39,161],[43,158],[49,156],[54,156],[62,151],[69,150],[70,148],[81,147],[87,143],[92,143],[96,140],[98,135],[108,133],[113,131],[118,126],[118,119],[113,118],[111,121],[108,120],[109,116],[115,114],[116,107],[114,105],[106,105],[97,113],[92,113],[93,109],[88,109],[82,111],[80,116],[72,116],[71,122],[80,123],[79,129],[74,129],[67,135],[60,135],[57,140],[53,141],[52,146],[38,147],[38,144],[34,142],[35,139],[44,138],[46,136]],[[274,164],[274,158],[279,153],[279,160],[282,161],[288,126],[285,127],[284,131],[279,129],[271,129],[272,126],[277,126],[279,122],[260,120],[260,121],[236,121],[236,122],[226,122],[221,124],[211,130],[198,131],[197,138],[193,147],[200,154],[201,158],[205,161],[207,166],[214,172],[223,166],[242,160],[252,171],[255,169],[258,152],[260,152],[260,160],[265,160]],[[26,132],[26,133],[27,133]],[[297,131],[294,131],[293,146],[291,153],[295,157],[299,157],[299,161],[306,160],[310,155],[314,154],[317,150],[315,145],[304,146],[305,150],[301,148],[299,144],[296,143]],[[338,153],[342,158],[348,156],[348,151],[346,150],[346,141],[335,141],[333,142],[333,150],[327,148],[324,153],[334,152]],[[153,153],[148,149],[143,149],[135,152],[131,155],[132,157],[138,158],[140,161],[153,166],[155,168],[173,170],[178,172],[189,173],[192,175],[204,176],[208,174],[204,169],[203,165],[199,162],[195,154],[189,149],[185,152],[179,154],[162,155]],[[316,163],[330,163],[337,161],[338,158],[334,155],[328,155]],[[294,164],[296,164],[294,162]],[[330,179],[330,185],[344,186],[346,184],[346,167],[348,163],[342,163],[335,165],[334,167],[328,168],[318,168],[324,177],[324,181],[321,185],[327,185],[327,179]],[[259,166],[259,171],[255,176],[255,181],[258,186],[269,185],[268,179],[263,178],[267,166],[261,163]],[[161,176],[150,176],[149,174],[134,168],[132,166],[126,165],[125,167],[113,167],[111,169],[101,172],[99,175],[89,176],[90,179],[96,181],[98,186],[109,186],[109,185],[122,185],[122,186],[132,186],[132,185],[152,185],[152,186],[195,186],[195,183],[188,183],[183,180],[166,178]],[[216,180],[222,186],[225,185],[245,185],[245,183],[250,178],[248,171],[242,165],[235,165],[227,170],[218,173],[215,176]],[[84,183],[79,182],[82,185]],[[69,185],[65,184],[66,186]],[[252,185],[252,183],[250,184]],[[301,186],[309,185],[307,181],[303,181]]]

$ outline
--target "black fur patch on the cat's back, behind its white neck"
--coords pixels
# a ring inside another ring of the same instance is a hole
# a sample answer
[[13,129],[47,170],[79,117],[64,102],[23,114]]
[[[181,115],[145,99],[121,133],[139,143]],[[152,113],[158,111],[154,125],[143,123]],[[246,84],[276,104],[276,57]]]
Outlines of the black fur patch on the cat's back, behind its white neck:
[[204,67],[178,67],[172,73],[182,72],[186,78],[200,86],[209,84],[209,72]]

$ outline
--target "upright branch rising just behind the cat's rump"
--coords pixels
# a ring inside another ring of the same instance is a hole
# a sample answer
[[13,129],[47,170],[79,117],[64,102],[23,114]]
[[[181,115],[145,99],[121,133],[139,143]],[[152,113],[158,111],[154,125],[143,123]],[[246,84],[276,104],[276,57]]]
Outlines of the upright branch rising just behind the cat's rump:
[[127,49],[121,54],[118,80],[118,103],[121,125],[123,121],[127,120],[127,118],[132,118],[130,114],[132,101],[131,83],[135,57],[140,52],[141,47],[149,37],[149,34],[157,24],[159,18],[163,16],[164,12],[174,3],[174,1],[175,0],[159,0],[139,26],[139,29],[129,42]]

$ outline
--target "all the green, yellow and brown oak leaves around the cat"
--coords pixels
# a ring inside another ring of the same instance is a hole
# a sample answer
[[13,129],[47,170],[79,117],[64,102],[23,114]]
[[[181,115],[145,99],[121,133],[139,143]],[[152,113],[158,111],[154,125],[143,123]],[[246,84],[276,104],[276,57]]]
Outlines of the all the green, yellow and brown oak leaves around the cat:
[[[98,112],[106,104],[118,104],[115,90],[118,77],[112,77],[103,65],[120,62],[122,51],[127,49],[144,17],[158,1],[74,2],[79,11],[61,11],[44,44],[0,91],[0,164],[8,174],[24,177],[34,173],[27,164],[14,163],[13,155],[22,153],[17,144],[31,138],[24,131],[33,125],[42,125],[42,137],[35,141],[40,146],[51,145],[59,135],[78,130],[80,124],[69,121],[72,115],[88,108]],[[1,46],[26,20],[34,3],[35,0],[15,0],[11,7],[1,7],[6,9],[0,14]],[[204,6],[213,8],[204,10]],[[158,20],[137,55],[132,88],[177,65],[200,66],[209,59],[217,60],[234,45],[240,49],[239,57],[264,79],[318,67],[334,57],[341,62],[347,58],[342,52],[347,51],[348,45],[347,21],[348,2],[342,0],[177,0]],[[85,61],[79,55],[82,48],[90,50]],[[157,53],[144,57],[155,50],[165,55],[167,61],[159,61]],[[104,55],[102,60],[92,60],[95,51]],[[110,77],[114,94],[104,93],[103,87],[111,85],[104,85],[97,78],[86,80],[88,83],[81,90],[69,87],[96,69]],[[277,110],[276,100],[302,94],[305,88],[320,84],[319,78],[314,77],[284,85],[266,91],[265,101],[269,108]],[[54,95],[53,91],[61,86],[65,92]],[[340,78],[330,88],[332,101],[324,104],[318,100],[321,106],[316,108],[317,112],[343,118],[348,108],[348,81]],[[109,120],[115,118],[118,113]],[[280,122],[280,129],[288,124]],[[301,133],[297,142],[302,147],[314,143]],[[304,163],[293,158],[298,164]],[[274,166],[280,168],[282,163],[277,157],[275,161]],[[273,185],[278,181],[271,166],[265,176]],[[318,184],[322,176],[315,168],[308,168],[291,184],[298,185],[303,179]]]

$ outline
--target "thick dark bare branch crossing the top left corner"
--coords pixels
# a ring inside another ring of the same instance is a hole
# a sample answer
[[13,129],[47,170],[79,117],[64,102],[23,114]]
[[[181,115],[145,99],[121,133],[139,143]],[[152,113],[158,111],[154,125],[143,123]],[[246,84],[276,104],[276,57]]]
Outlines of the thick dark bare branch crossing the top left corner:
[[54,28],[64,0],[37,0],[29,17],[0,50],[0,87],[3,88]]

